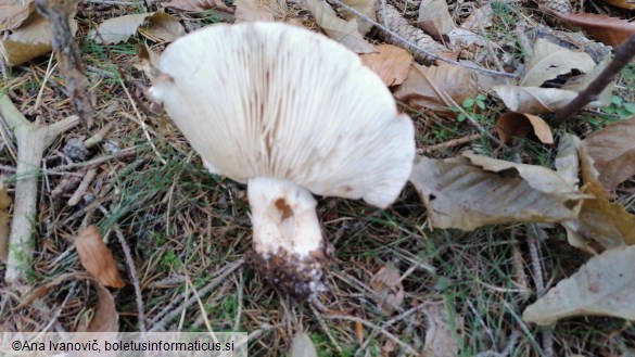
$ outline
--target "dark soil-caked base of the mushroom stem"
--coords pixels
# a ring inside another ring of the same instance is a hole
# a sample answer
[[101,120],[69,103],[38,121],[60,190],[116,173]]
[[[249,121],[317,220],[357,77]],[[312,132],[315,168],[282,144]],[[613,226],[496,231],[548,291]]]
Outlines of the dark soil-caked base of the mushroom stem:
[[271,285],[297,299],[308,299],[327,291],[323,270],[329,255],[326,251],[320,248],[301,258],[283,250],[266,255],[252,250],[246,259]]

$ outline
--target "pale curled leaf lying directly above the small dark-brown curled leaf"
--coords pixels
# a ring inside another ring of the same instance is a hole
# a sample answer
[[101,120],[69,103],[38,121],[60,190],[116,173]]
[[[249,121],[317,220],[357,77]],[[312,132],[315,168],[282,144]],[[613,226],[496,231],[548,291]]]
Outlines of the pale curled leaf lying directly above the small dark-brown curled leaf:
[[[557,88],[497,85],[492,87],[492,90],[510,111],[534,115],[554,113],[577,97],[577,93],[572,90]],[[595,101],[585,107],[602,106],[602,103]]]

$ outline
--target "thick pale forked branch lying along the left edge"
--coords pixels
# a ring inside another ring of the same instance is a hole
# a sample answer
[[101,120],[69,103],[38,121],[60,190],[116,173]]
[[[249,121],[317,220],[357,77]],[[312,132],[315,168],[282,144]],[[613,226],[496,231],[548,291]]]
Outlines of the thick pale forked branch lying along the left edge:
[[4,281],[14,290],[28,291],[26,271],[30,269],[35,241],[38,180],[37,173],[45,150],[61,133],[75,127],[79,117],[73,115],[61,122],[42,125],[28,122],[7,94],[0,94],[0,120],[13,131],[17,140],[17,170],[15,173],[15,206],[9,237],[9,257]]

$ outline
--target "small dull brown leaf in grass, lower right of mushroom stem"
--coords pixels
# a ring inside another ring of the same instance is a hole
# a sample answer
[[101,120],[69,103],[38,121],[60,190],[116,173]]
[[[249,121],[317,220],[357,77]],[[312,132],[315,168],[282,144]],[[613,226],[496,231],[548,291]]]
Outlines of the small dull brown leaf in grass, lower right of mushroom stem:
[[373,298],[378,307],[388,316],[395,311],[395,307],[404,303],[405,292],[401,278],[399,270],[392,263],[381,267],[370,278],[370,288],[378,293],[378,296]]

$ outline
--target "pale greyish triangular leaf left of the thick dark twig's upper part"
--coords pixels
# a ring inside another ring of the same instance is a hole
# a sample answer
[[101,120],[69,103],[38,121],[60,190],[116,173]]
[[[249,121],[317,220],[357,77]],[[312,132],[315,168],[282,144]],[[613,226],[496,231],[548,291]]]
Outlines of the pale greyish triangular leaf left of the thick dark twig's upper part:
[[584,52],[574,52],[556,43],[538,38],[526,63],[526,71],[520,80],[521,87],[539,87],[559,75],[577,69],[589,73],[595,67],[593,59]]

